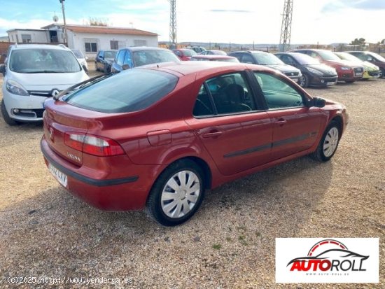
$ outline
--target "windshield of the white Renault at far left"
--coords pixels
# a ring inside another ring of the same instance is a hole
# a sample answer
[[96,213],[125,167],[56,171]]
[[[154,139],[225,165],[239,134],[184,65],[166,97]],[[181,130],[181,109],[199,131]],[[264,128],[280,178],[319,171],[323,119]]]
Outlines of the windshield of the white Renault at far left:
[[9,69],[18,73],[73,73],[81,71],[75,55],[68,50],[20,49],[10,55]]

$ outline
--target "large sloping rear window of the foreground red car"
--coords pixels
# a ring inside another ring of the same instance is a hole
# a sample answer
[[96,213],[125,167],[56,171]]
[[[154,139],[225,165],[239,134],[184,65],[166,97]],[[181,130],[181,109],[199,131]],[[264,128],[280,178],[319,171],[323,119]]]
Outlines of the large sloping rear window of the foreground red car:
[[130,69],[77,90],[65,101],[102,113],[140,111],[172,92],[178,79],[162,71]]

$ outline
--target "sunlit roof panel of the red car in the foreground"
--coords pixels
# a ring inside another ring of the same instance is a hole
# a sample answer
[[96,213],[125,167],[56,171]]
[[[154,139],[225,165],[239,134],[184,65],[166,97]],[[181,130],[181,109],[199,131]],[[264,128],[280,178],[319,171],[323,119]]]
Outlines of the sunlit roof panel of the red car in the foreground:
[[276,72],[274,69],[270,69],[266,66],[259,66],[255,64],[245,64],[237,62],[197,62],[197,61],[186,61],[186,62],[165,62],[160,64],[149,64],[146,66],[139,66],[135,69],[152,69],[160,70],[173,74],[182,74],[184,76],[188,74],[198,73],[198,72],[215,72],[223,70],[244,70],[244,69],[253,69],[259,71],[272,71]]

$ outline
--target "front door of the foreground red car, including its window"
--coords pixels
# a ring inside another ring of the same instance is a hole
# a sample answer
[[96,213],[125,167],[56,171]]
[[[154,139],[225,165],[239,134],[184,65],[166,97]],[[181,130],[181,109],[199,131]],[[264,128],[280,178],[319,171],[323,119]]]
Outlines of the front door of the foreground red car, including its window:
[[313,146],[321,128],[321,108],[309,108],[302,92],[281,76],[258,71],[253,74],[274,127],[272,160]]

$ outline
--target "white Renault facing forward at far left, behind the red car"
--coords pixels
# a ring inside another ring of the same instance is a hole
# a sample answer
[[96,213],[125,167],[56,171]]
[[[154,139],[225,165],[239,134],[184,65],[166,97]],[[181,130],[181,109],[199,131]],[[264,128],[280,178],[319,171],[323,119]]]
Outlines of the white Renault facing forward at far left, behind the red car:
[[43,120],[43,101],[88,79],[73,52],[58,45],[13,45],[1,64],[1,113],[8,125]]

